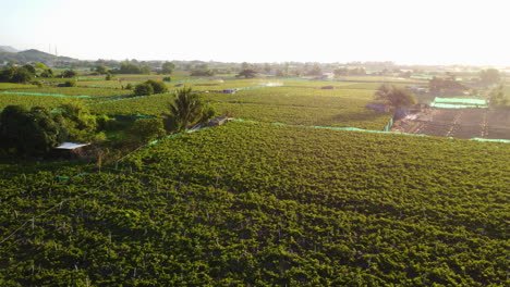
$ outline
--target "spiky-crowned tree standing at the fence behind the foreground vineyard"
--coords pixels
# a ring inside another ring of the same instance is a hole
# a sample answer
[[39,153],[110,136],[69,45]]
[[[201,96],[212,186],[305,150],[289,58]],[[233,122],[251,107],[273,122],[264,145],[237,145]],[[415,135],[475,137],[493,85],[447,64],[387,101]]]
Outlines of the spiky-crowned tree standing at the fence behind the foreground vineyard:
[[215,110],[191,88],[178,90],[174,101],[168,108],[170,113],[165,114],[165,127],[170,133],[203,124],[215,115]]

